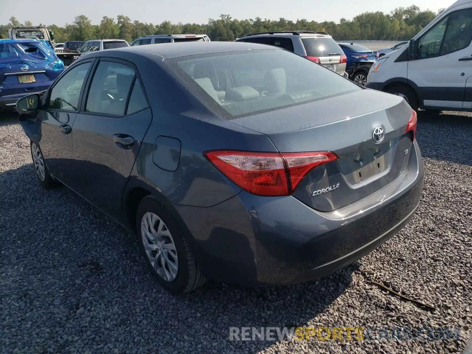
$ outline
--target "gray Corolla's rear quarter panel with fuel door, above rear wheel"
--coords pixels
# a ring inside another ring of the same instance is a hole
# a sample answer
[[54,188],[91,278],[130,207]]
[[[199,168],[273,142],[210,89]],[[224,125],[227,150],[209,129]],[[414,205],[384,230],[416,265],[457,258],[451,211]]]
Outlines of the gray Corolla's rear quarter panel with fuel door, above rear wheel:
[[[150,53],[148,58],[135,60],[153,119],[131,173],[132,183],[150,186],[172,204],[209,207],[223,202],[241,189],[223,177],[202,152],[277,150],[266,135],[217,117],[156,57]],[[180,151],[157,144],[158,137],[177,139]],[[177,170],[156,164],[162,154],[168,155],[164,160],[174,161]]]

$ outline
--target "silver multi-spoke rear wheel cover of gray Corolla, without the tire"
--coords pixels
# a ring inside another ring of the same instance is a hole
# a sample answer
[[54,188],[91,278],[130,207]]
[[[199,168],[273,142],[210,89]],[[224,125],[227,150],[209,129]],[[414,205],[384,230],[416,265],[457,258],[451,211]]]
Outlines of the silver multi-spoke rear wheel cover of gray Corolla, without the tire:
[[145,213],[141,219],[141,238],[156,273],[166,281],[175,280],[178,273],[176,245],[164,221],[152,212]]

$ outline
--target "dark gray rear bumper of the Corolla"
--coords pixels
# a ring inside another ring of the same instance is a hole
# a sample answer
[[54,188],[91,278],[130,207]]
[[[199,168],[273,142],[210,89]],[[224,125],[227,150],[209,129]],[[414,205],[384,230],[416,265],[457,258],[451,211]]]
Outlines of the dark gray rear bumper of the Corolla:
[[414,143],[402,177],[333,212],[315,211],[292,196],[241,192],[214,207],[176,206],[194,236],[203,274],[246,286],[282,285],[322,277],[386,242],[418,207],[423,166]]

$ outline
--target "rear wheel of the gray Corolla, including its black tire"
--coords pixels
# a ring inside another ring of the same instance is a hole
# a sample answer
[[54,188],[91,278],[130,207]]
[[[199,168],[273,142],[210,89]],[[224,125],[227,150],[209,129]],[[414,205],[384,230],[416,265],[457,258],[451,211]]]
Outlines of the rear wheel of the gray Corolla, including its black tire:
[[164,289],[180,295],[205,283],[187,243],[191,236],[184,235],[154,196],[145,197],[138,206],[136,236],[144,260]]

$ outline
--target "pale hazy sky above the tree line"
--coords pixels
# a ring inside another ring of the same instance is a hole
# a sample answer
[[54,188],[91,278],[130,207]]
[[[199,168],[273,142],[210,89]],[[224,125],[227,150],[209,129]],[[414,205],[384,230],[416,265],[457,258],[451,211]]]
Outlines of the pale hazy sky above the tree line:
[[[0,0],[0,24],[7,25],[12,16],[18,21],[31,21],[34,25],[63,26],[72,23],[74,17],[85,15],[92,24],[100,23],[103,16],[116,17],[125,15],[131,21],[158,25],[163,21],[172,23],[207,23],[209,18],[217,19],[220,14],[230,15],[239,20],[261,17],[278,20],[284,17],[296,21],[305,18],[317,22],[334,21],[354,16],[366,11],[383,11],[389,13],[394,8],[416,5],[421,10],[429,8],[437,11],[447,8],[454,0],[394,0],[394,1],[359,1],[329,0],[316,3],[312,0],[46,0],[36,1],[33,8],[31,0]],[[29,10],[31,8],[31,10]]]

